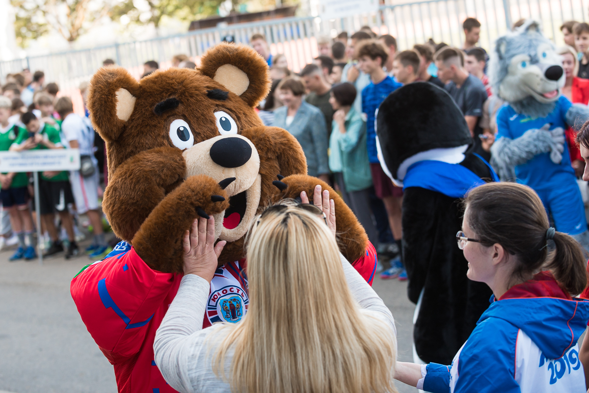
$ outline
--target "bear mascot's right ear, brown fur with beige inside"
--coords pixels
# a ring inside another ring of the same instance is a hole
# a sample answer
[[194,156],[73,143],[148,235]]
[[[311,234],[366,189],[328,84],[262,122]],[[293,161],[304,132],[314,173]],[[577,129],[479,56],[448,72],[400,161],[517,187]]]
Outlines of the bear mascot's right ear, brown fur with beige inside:
[[198,71],[239,95],[252,108],[270,91],[266,61],[246,45],[225,43],[210,48],[201,58]]

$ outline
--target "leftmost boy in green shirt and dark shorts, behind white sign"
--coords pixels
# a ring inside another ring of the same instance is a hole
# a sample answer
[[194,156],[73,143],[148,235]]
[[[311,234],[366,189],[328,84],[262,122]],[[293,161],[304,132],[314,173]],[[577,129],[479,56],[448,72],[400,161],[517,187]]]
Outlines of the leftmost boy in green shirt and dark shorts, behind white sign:
[[[19,128],[14,123],[9,122],[8,118],[11,114],[12,102],[0,96],[0,151],[8,151],[16,137],[21,132],[26,134],[22,128]],[[9,261],[16,261],[18,259],[34,259],[37,258],[33,241],[33,221],[31,211],[29,211],[29,178],[26,173],[9,173],[0,174],[0,199],[2,199],[2,209],[8,212],[12,231],[18,237],[18,249],[9,258]],[[4,224],[4,219],[2,220]],[[9,231],[6,231],[6,235]],[[4,235],[4,234],[3,234]],[[25,242],[27,239],[29,245]]]

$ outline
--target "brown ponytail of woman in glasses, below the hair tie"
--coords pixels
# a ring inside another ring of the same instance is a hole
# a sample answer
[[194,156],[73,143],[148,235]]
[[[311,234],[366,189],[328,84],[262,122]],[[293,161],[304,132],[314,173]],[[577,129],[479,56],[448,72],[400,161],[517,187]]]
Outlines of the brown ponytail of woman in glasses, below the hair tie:
[[551,261],[546,265],[562,288],[571,295],[578,295],[587,287],[587,269],[583,251],[578,242],[567,234],[554,234],[556,250],[551,252]]

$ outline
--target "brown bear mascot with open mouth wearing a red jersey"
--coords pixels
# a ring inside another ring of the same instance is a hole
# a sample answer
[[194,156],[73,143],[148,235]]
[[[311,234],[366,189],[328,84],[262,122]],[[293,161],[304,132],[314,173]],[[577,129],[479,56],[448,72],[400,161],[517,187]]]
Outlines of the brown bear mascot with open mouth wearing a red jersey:
[[216,239],[227,241],[203,327],[246,314],[244,236],[254,217],[302,191],[313,195],[317,184],[335,200],[340,251],[372,281],[376,252],[355,215],[306,175],[296,139],[254,111],[269,87],[264,59],[234,44],[209,49],[197,69],[137,82],[105,67],[92,77],[88,109],[109,172],[102,208],[123,241],[72,279],[71,294],[120,392],[174,392],[155,365],[153,341],[180,285],[181,239],[199,216],[212,215]]

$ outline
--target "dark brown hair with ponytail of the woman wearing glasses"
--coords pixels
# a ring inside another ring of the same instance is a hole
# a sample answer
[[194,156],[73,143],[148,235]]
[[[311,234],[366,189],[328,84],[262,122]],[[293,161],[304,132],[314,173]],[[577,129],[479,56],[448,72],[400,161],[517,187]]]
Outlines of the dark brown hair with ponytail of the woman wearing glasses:
[[[513,278],[525,280],[541,269],[550,269],[571,295],[587,287],[581,246],[567,234],[552,232],[554,229],[550,231],[554,237],[547,237],[550,224],[546,210],[530,187],[508,182],[481,185],[468,193],[464,206],[468,208],[468,225],[481,244],[501,244],[508,257],[517,257]],[[550,237],[556,249],[549,254]]]

